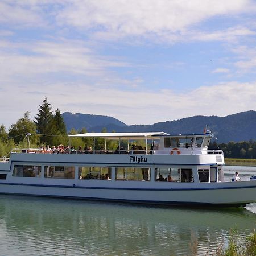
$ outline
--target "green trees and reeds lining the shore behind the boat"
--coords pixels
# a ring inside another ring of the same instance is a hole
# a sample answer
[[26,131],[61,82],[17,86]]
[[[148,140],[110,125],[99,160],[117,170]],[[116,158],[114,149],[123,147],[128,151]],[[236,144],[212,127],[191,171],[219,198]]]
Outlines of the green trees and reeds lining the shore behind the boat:
[[[106,133],[106,128],[103,128],[101,132]],[[43,104],[39,106],[38,114],[36,114],[33,121],[30,119],[30,112],[27,111],[22,118],[11,125],[8,131],[6,131],[5,125],[0,125],[0,157],[7,155],[12,148],[68,145],[68,135],[79,133],[87,133],[86,128],[67,131],[60,110],[57,109],[53,113],[51,104],[49,104],[46,97],[43,100]],[[136,142],[134,143],[136,144]],[[141,141],[139,143],[139,146],[143,148],[146,146]],[[91,147],[93,145],[93,138],[72,138],[71,144],[75,148]],[[104,144],[104,139],[96,138],[96,149],[101,150],[104,148]],[[118,142],[106,142],[106,147],[110,150],[115,150],[117,146]],[[227,144],[218,144],[217,141],[213,141],[209,144],[209,149],[224,151],[225,163],[227,165],[256,166],[256,141],[254,139],[242,142],[232,141]]]

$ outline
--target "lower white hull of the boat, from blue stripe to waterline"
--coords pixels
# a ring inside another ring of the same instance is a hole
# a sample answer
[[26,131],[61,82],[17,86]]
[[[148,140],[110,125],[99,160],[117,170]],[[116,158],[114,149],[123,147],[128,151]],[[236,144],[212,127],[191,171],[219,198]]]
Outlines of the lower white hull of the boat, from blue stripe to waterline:
[[[251,182],[251,181],[249,181]],[[254,183],[254,182],[253,182]],[[215,188],[118,188],[1,183],[0,193],[159,205],[239,207],[255,201],[256,185]]]

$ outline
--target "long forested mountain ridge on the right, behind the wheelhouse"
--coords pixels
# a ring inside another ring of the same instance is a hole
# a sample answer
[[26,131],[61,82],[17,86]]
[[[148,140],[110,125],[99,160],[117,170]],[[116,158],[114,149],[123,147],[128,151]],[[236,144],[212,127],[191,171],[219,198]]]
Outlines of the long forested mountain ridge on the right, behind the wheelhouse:
[[154,125],[133,125],[127,131],[165,131],[170,134],[203,133],[205,125],[217,137],[218,143],[256,140],[256,112],[247,111],[226,117],[210,116],[183,118]]

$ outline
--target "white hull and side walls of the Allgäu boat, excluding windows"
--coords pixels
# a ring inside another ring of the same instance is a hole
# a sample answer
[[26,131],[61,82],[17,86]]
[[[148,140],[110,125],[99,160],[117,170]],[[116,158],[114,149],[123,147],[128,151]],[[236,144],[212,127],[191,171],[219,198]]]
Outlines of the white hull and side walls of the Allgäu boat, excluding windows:
[[[241,182],[156,182],[157,168],[200,168],[223,164],[218,155],[11,154],[0,164],[0,193],[159,205],[244,206],[256,200],[256,180]],[[218,163],[220,161],[220,163]],[[13,176],[15,165],[75,166],[73,179]],[[112,169],[112,180],[79,179],[79,166]],[[115,180],[115,167],[150,168],[150,181]],[[215,169],[214,169],[215,170]]]

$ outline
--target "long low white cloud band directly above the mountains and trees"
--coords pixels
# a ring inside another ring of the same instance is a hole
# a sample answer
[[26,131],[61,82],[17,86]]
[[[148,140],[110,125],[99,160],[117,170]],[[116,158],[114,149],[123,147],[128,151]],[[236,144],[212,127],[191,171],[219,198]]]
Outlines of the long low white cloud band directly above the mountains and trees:
[[[38,112],[45,96],[53,109],[61,112],[78,112],[110,115],[127,124],[152,124],[193,115],[225,116],[256,109],[256,83],[229,82],[200,87],[186,93],[171,90],[152,92],[127,91],[92,84],[42,84],[35,91],[34,84],[6,88],[1,93],[1,109],[6,115],[1,122],[15,123],[27,110],[31,117]],[[20,97],[22,95],[22,97]],[[16,99],[14,104],[9,101]]]

